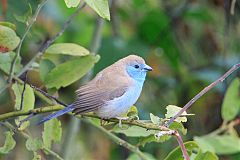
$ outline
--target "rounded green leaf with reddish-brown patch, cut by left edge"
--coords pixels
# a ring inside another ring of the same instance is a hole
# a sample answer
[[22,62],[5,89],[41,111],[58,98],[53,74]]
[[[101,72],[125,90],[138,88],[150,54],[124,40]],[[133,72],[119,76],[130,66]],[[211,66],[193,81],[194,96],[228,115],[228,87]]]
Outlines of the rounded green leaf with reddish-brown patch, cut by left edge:
[[20,38],[12,28],[0,25],[0,53],[17,48]]

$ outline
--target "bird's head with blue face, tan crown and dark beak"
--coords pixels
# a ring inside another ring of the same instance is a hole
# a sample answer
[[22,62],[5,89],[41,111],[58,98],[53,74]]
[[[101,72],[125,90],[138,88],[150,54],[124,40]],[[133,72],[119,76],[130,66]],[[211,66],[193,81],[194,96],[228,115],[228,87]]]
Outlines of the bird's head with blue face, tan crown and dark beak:
[[129,55],[123,58],[122,62],[129,76],[138,82],[144,82],[147,72],[152,71],[144,59],[136,55]]

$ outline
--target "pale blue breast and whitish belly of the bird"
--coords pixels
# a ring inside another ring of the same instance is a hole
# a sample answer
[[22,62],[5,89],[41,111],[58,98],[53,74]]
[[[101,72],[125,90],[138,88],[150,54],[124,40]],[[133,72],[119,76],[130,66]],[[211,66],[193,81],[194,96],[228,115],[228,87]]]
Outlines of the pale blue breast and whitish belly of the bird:
[[142,91],[143,83],[135,83],[120,97],[116,97],[106,102],[106,105],[97,110],[97,114],[102,118],[114,118],[126,113],[128,109],[136,103]]

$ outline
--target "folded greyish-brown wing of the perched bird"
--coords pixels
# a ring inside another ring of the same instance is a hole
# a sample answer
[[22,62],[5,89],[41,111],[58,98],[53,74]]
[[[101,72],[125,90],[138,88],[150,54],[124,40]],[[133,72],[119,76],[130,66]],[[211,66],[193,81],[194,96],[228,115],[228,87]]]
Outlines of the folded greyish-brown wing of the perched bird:
[[122,96],[127,91],[127,86],[99,87],[86,85],[77,90],[77,100],[73,103],[73,113],[81,114],[91,112],[103,106],[106,102]]

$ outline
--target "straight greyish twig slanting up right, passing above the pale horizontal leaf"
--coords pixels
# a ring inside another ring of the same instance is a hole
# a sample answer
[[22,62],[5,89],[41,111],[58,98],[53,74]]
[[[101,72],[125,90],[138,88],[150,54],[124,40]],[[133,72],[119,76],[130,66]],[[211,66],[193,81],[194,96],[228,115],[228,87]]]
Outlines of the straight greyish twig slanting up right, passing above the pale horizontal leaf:
[[70,23],[73,21],[73,19],[78,15],[79,11],[84,8],[86,3],[84,2],[82,5],[79,5],[76,11],[68,18],[68,20],[63,24],[62,29],[51,39],[49,39],[47,42],[45,42],[38,50],[38,53],[23,67],[23,69],[17,74],[17,77],[22,75],[24,72],[26,72],[31,66],[32,63],[35,62],[35,60],[40,57],[45,50],[54,42],[56,39],[58,39],[64,31],[68,28]]

